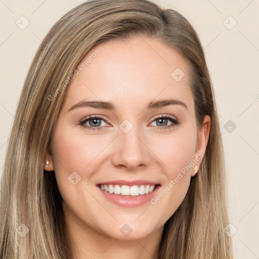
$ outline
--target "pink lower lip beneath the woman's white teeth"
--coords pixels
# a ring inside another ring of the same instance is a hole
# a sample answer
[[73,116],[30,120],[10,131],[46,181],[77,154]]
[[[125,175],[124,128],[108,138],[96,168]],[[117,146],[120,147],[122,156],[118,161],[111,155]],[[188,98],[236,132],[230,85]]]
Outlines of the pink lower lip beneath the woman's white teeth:
[[148,194],[139,195],[136,197],[129,197],[129,196],[122,196],[114,193],[109,193],[103,191],[101,188],[97,186],[100,192],[106,197],[108,200],[114,202],[117,205],[123,207],[137,207],[145,204],[146,202],[150,201],[154,196],[157,194],[158,190],[160,189],[160,185],[158,185],[155,190]]

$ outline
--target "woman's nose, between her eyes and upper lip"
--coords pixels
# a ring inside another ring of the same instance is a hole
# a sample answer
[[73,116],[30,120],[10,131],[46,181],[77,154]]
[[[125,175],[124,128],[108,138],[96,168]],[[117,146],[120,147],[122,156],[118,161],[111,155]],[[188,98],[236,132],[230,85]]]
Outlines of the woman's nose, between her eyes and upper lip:
[[133,127],[128,133],[119,130],[119,136],[114,141],[112,163],[114,166],[126,167],[128,170],[147,166],[150,162],[150,150],[145,144],[145,138]]

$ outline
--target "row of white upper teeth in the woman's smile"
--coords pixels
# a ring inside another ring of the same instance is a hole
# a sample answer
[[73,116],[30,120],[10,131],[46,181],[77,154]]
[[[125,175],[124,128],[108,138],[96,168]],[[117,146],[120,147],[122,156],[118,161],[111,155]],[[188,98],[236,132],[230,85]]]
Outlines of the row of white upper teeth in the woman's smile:
[[109,192],[109,193],[114,193],[114,194],[121,194],[124,196],[138,196],[138,195],[144,195],[144,194],[148,194],[150,192],[153,192],[155,190],[155,186],[154,185],[134,185],[134,186],[127,186],[127,185],[112,185],[109,184],[107,185],[103,185],[101,184],[100,188],[105,191],[105,192]]

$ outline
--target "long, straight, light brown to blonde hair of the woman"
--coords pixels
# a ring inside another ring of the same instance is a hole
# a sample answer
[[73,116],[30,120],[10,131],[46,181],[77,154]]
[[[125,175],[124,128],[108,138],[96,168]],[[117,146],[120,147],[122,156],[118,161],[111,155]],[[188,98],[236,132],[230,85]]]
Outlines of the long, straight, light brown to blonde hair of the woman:
[[1,258],[73,258],[55,174],[44,170],[45,152],[70,76],[82,58],[99,42],[134,35],[156,38],[186,59],[197,126],[206,114],[211,119],[199,174],[165,223],[159,259],[233,257],[231,239],[223,231],[228,214],[219,119],[196,31],[177,11],[147,0],[90,0],[52,27],[25,79],[1,182]]

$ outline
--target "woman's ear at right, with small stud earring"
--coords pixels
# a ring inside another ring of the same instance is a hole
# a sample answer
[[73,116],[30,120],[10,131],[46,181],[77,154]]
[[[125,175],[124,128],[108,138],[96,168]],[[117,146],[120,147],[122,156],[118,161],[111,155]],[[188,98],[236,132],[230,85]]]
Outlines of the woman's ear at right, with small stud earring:
[[[204,156],[206,147],[208,144],[209,132],[210,132],[210,117],[208,115],[205,115],[203,118],[202,125],[200,126],[200,129],[198,132],[194,160],[196,160],[195,157],[198,157],[200,153],[203,154],[203,156]],[[193,166],[192,176],[196,175],[195,167],[197,166],[199,169],[201,161],[202,161],[202,158],[199,161],[197,161],[195,163],[195,165]]]

